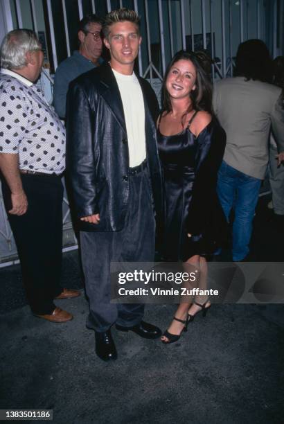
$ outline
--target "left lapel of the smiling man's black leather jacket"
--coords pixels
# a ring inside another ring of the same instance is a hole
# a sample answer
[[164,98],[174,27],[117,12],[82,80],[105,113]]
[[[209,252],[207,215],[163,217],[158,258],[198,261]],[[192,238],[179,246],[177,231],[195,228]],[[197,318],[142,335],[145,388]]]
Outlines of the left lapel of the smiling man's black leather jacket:
[[108,63],[105,63],[100,66],[100,71],[100,82],[105,88],[101,91],[101,95],[107,102],[107,105],[109,105],[109,109],[112,110],[116,121],[118,121],[119,125],[121,125],[126,134],[123,102],[121,100],[121,93],[119,92],[112,68]]

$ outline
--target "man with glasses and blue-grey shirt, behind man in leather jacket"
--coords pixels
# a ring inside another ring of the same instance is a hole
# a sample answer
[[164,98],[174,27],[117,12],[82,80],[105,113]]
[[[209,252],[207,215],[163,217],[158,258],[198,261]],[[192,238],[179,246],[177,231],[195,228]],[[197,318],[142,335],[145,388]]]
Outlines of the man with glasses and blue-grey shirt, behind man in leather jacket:
[[103,48],[102,21],[96,15],[87,15],[80,21],[79,49],[60,63],[55,72],[53,105],[60,118],[65,118],[66,94],[71,81],[82,73],[100,65]]

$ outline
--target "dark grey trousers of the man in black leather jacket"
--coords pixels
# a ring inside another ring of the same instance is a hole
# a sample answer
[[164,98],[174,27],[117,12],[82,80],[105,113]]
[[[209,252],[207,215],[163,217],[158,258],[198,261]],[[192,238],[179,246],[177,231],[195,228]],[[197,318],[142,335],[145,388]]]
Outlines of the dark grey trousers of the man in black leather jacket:
[[144,305],[110,303],[110,263],[154,260],[155,221],[148,169],[129,175],[130,194],[122,231],[80,232],[89,317],[87,328],[106,331],[115,322],[139,324]]

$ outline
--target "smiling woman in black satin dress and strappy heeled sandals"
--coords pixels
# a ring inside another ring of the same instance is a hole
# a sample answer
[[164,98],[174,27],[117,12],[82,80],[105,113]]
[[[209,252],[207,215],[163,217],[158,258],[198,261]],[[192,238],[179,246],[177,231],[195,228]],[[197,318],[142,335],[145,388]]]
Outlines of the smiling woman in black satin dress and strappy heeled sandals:
[[[226,136],[211,98],[211,81],[197,56],[177,53],[166,71],[157,123],[166,203],[163,257],[198,267],[199,288],[206,288],[206,257],[226,226],[215,191]],[[208,297],[196,297],[191,306],[180,303],[162,342],[176,342],[195,314],[205,315],[210,306]]]

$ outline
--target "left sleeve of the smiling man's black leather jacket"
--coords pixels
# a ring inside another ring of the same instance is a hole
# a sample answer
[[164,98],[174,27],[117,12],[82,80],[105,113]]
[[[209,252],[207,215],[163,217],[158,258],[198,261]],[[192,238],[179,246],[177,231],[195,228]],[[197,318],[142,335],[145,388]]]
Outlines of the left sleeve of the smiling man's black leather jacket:
[[80,82],[67,94],[66,169],[78,217],[99,213],[96,202],[95,113]]

